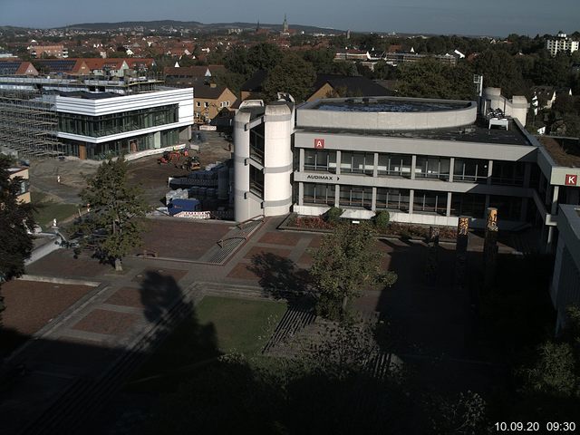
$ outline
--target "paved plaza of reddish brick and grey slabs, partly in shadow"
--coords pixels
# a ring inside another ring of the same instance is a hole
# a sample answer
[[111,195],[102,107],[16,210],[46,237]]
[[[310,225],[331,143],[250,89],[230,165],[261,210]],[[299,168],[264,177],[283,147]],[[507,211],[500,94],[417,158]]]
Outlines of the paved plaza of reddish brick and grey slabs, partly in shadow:
[[[78,407],[105,397],[105,387],[98,385],[111,385],[112,394],[122,377],[111,373],[128,375],[206,287],[212,295],[252,297],[304,291],[323,236],[279,230],[281,221],[266,218],[219,264],[205,258],[218,249],[218,240],[236,230],[232,223],[150,219],[143,247],[124,260],[121,273],[66,249],[28,266],[26,274],[34,281],[5,285],[5,326],[34,340],[7,362],[9,367],[24,365],[25,373],[0,391],[3,433],[20,433],[26,425],[35,433],[34,424],[48,424],[49,416],[55,427],[73,425],[69,414],[82,415]],[[365,289],[356,307],[388,314],[413,343],[432,341],[446,353],[465,356],[463,295],[449,290],[454,247],[440,248],[442,266],[431,283],[423,277],[427,254],[422,243],[381,240],[379,247],[386,255],[384,266],[399,274],[399,282],[389,290]],[[157,251],[157,257],[139,256],[142,249]],[[86,385],[81,388],[78,382]],[[68,399],[74,403],[63,402],[66,397],[75,398]],[[69,417],[54,420],[54,413],[61,415],[64,408]]]

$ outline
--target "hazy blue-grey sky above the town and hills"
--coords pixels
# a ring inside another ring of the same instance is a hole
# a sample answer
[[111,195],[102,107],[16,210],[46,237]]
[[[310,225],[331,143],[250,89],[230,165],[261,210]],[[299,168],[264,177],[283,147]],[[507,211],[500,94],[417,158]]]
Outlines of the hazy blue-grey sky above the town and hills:
[[0,25],[40,28],[152,20],[281,24],[284,14],[290,27],[355,32],[535,36],[580,30],[580,0],[0,0]]

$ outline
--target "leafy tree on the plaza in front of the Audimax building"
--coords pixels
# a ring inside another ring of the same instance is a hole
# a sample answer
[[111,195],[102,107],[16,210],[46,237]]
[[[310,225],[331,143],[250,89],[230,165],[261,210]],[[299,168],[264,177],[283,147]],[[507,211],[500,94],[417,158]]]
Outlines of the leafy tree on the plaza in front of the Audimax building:
[[383,272],[382,253],[375,247],[371,225],[340,224],[324,237],[314,253],[310,274],[319,291],[317,310],[333,320],[343,320],[348,304],[367,284],[393,285],[397,275]]

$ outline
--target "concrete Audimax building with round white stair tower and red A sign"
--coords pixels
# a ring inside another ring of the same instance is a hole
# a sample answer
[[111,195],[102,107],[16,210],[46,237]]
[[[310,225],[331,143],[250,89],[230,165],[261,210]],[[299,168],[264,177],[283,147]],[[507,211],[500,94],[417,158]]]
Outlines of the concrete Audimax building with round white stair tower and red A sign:
[[397,222],[457,226],[469,216],[483,227],[486,208],[496,207],[500,227],[541,226],[551,244],[557,203],[579,202],[580,168],[556,164],[524,130],[526,112],[525,98],[507,101],[497,89],[480,104],[243,102],[234,129],[236,220],[318,216],[334,206],[344,218],[389,210]]

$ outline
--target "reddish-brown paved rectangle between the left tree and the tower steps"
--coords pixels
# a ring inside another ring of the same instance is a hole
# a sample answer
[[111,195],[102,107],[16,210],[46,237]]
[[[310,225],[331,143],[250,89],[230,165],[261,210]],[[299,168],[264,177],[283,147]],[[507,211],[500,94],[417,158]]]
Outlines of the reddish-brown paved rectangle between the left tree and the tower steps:
[[198,222],[180,218],[154,218],[147,220],[143,244],[135,254],[143,250],[160,257],[181,258],[196,261],[233,227],[225,222]]

